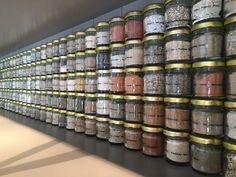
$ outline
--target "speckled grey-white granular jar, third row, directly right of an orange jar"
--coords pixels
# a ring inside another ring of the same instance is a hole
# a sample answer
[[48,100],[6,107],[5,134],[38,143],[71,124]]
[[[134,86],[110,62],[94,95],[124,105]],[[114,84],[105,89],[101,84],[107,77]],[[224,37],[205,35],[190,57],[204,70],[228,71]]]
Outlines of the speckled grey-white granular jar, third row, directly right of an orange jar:
[[165,94],[165,73],[161,66],[147,66],[143,68],[144,95]]

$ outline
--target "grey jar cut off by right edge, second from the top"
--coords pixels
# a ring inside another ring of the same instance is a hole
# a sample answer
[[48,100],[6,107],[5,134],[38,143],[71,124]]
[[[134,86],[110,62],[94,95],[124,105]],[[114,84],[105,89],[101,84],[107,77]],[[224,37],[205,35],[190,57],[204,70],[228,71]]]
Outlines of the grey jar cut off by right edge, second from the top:
[[236,57],[236,15],[225,19],[225,56],[226,58]]

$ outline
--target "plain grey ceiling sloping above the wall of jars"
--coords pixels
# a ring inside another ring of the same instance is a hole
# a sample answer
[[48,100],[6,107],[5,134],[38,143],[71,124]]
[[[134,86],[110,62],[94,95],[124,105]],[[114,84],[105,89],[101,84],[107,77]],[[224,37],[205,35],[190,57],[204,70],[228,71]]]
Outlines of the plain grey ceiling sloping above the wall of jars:
[[0,56],[132,1],[1,0]]

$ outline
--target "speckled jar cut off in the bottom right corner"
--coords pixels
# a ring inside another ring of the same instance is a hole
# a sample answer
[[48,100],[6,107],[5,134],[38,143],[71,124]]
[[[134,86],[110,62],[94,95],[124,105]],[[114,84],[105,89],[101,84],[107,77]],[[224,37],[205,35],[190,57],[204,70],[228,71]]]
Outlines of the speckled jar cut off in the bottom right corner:
[[223,165],[224,177],[234,177],[236,174],[235,142],[224,141]]

